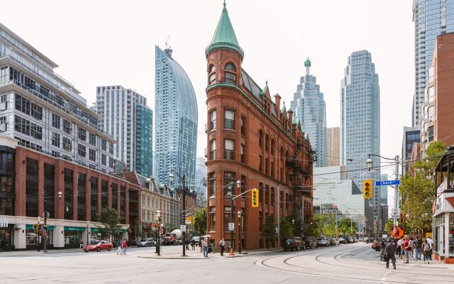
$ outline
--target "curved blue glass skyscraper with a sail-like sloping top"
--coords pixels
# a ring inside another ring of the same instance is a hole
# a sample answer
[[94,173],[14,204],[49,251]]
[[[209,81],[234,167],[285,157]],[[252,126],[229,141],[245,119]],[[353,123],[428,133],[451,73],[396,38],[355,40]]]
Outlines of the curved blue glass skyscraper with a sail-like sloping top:
[[[155,168],[160,184],[170,184],[170,170],[195,180],[196,94],[188,75],[172,58],[172,49],[155,47]],[[175,179],[179,186],[179,179]]]

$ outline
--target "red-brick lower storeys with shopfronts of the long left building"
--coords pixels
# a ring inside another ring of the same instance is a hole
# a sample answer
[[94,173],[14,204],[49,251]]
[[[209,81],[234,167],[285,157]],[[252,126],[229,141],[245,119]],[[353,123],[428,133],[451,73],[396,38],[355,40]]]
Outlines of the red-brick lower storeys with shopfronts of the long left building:
[[50,214],[50,249],[78,248],[87,236],[99,236],[95,217],[105,206],[114,207],[125,219],[118,236],[113,237],[134,236],[129,228],[140,222],[139,186],[17,143],[0,136],[0,197],[4,200],[0,220],[6,224],[0,233],[8,249],[36,249],[41,238],[37,239],[33,225],[43,212]]

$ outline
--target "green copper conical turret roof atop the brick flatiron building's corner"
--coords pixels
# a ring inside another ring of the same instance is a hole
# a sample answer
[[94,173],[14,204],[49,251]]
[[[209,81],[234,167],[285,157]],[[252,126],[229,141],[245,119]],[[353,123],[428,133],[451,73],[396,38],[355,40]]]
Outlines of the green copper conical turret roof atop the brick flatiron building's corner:
[[236,40],[235,31],[233,31],[232,23],[228,17],[226,3],[224,2],[223,5],[224,8],[222,9],[218,27],[214,32],[210,45],[205,50],[205,55],[208,56],[211,51],[216,49],[230,49],[236,51],[243,59],[244,53],[238,44],[238,40]]

